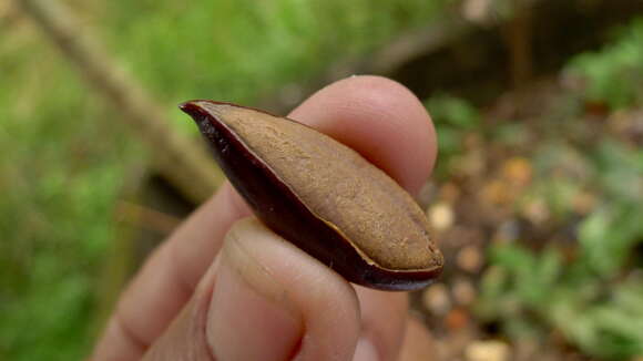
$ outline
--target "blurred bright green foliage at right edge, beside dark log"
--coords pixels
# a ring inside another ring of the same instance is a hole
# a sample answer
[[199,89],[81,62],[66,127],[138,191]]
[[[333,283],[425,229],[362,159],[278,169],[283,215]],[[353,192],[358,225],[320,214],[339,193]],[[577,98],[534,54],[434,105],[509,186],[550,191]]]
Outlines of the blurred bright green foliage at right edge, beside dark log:
[[619,31],[619,38],[599,52],[584,53],[569,70],[585,84],[585,96],[620,109],[641,104],[643,95],[643,19]]

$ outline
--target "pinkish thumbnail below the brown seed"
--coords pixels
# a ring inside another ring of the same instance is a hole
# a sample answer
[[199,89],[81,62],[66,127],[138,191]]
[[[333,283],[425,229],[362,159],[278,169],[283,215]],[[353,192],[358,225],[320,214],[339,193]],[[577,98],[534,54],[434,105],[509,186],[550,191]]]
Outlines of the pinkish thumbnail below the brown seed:
[[269,268],[228,235],[212,296],[207,337],[216,360],[288,360],[300,317]]

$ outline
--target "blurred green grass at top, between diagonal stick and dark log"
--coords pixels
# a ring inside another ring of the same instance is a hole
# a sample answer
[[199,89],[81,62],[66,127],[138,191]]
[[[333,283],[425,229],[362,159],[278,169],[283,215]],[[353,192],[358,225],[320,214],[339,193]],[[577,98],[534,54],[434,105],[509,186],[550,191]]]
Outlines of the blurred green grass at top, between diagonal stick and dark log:
[[447,2],[110,1],[101,21],[111,48],[167,104],[195,97],[253,104],[426,24]]

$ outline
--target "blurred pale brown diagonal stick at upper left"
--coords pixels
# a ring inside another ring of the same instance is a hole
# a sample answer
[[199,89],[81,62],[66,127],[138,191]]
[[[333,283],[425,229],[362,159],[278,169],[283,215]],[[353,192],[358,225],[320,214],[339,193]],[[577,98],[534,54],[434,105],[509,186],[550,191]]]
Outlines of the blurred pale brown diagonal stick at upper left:
[[192,202],[210,197],[223,176],[205,148],[171,130],[161,106],[92,41],[73,14],[55,0],[18,0],[18,3],[85,75],[88,83],[116,107],[134,134],[154,149],[156,171]]

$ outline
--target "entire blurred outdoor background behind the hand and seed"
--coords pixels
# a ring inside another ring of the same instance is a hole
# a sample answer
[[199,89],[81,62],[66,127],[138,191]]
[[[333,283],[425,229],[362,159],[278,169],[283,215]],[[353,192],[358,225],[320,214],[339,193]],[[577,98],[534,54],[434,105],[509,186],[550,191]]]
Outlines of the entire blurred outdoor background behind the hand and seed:
[[221,184],[176,104],[392,78],[438,130],[436,360],[643,360],[643,1],[0,1],[0,360],[82,359]]

